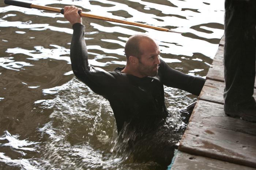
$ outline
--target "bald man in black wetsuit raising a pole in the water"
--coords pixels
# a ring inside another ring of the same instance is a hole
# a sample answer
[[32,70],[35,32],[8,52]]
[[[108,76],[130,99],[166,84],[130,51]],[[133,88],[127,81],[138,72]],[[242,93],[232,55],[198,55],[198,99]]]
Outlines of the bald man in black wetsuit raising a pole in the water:
[[[194,95],[200,94],[205,79],[170,68],[159,59],[158,44],[146,35],[133,35],[128,39],[125,45],[127,64],[124,68],[107,72],[90,66],[84,41],[85,28],[78,11],[82,9],[74,6],[64,8],[64,17],[74,30],[70,50],[72,70],[91,90],[109,100],[119,134],[126,133],[124,129],[147,134],[165,121],[168,111],[163,85]],[[133,143],[128,142],[128,145],[132,146]],[[168,151],[164,147],[163,150]],[[161,151],[159,153],[164,155]],[[167,161],[161,161],[168,165],[171,158],[169,154],[164,158]]]

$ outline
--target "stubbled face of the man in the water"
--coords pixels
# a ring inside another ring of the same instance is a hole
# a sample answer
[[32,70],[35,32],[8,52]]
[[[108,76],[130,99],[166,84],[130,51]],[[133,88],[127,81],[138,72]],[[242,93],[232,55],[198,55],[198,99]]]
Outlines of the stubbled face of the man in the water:
[[143,39],[140,41],[140,56],[138,63],[138,71],[143,76],[154,77],[158,74],[159,46],[151,39]]

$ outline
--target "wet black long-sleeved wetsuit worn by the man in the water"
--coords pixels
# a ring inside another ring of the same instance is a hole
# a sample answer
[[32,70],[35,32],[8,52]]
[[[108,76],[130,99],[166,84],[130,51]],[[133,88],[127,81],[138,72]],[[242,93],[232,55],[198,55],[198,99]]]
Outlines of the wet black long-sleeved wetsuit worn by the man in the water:
[[121,72],[123,68],[105,71],[90,66],[84,41],[84,26],[73,25],[71,42],[71,63],[75,76],[87,84],[95,93],[109,100],[116,119],[118,132],[124,123],[130,126],[153,126],[166,118],[163,84],[199,95],[205,79],[173,70],[160,60],[158,75],[138,78]]

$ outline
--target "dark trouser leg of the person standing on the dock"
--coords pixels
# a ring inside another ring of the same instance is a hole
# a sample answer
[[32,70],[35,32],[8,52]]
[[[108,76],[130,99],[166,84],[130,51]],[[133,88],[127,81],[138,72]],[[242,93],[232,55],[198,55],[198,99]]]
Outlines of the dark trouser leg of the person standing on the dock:
[[225,0],[224,110],[255,105],[256,0]]

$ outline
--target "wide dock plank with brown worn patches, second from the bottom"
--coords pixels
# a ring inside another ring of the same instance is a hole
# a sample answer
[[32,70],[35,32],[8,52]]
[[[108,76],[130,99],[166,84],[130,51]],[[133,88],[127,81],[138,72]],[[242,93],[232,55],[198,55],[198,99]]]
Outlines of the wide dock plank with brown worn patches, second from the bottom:
[[180,151],[256,167],[256,136],[189,122]]

